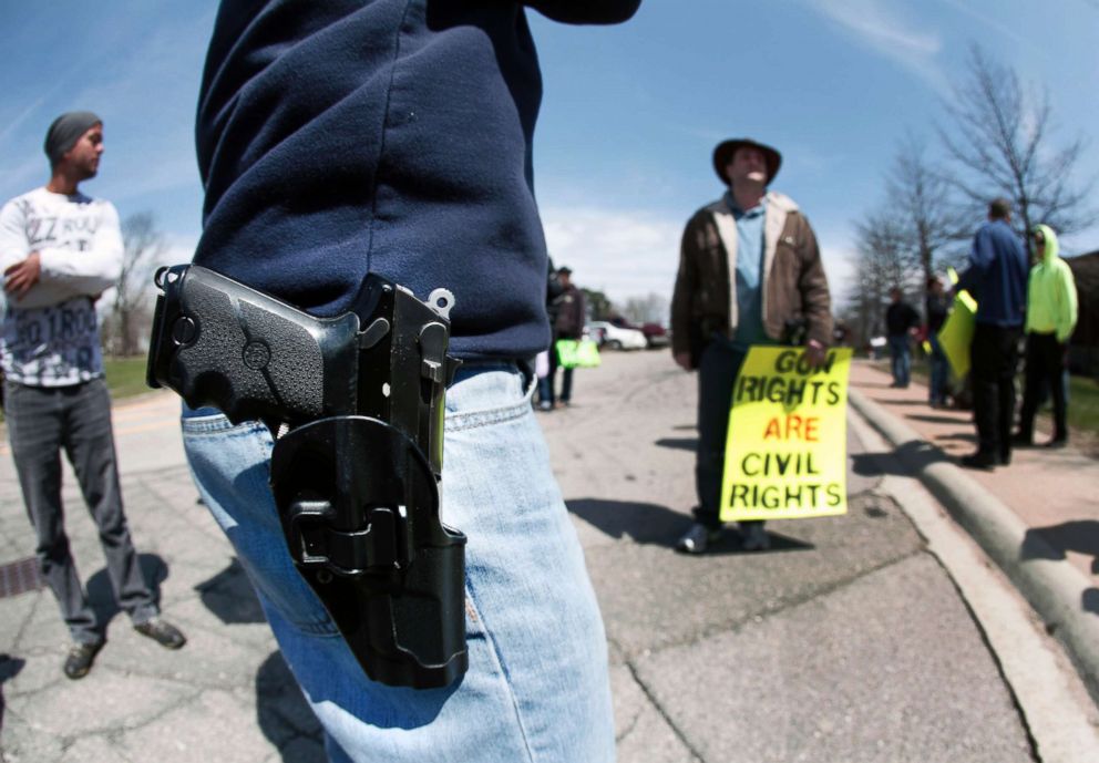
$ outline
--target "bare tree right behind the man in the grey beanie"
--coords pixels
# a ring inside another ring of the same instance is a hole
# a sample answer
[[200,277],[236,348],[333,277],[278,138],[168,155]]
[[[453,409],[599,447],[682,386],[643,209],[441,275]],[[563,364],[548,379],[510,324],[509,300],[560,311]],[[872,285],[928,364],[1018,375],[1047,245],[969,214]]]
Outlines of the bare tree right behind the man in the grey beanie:
[[140,212],[122,221],[122,275],[104,324],[107,349],[129,357],[144,350],[142,337],[152,315],[152,274],[167,250],[164,234],[152,213]]

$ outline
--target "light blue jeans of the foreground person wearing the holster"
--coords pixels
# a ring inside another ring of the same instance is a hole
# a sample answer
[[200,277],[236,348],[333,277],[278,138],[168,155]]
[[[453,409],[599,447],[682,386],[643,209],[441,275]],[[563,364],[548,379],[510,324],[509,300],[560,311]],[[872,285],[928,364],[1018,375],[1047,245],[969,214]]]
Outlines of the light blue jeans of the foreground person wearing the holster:
[[367,679],[298,575],[267,484],[267,429],[184,409],[203,499],[248,571],[332,761],[614,760],[603,621],[530,394],[506,364],[465,367],[448,391],[442,517],[469,536],[470,669],[425,691]]

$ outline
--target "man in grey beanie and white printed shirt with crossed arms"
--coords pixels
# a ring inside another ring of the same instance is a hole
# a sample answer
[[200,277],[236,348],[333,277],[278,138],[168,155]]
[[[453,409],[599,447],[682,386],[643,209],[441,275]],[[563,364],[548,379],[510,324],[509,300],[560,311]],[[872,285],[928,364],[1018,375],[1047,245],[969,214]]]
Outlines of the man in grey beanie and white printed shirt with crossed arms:
[[122,275],[122,231],[114,205],[80,184],[99,173],[103,122],[69,112],[45,134],[50,182],[0,210],[0,269],[7,306],[0,336],[4,416],[42,578],[61,606],[73,645],[63,671],[83,678],[106,642],[76,573],[64,530],[61,451],[73,466],[99,529],[119,607],[134,629],[168,649],[186,639],[160,617],[122,508],[103,379],[95,300]]

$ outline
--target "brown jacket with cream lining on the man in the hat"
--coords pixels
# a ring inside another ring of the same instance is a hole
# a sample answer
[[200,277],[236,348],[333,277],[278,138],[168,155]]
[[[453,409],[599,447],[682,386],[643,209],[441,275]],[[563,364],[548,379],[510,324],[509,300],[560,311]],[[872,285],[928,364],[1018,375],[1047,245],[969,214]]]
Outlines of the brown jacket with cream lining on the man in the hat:
[[[671,351],[697,355],[710,333],[731,337],[737,328],[737,221],[723,199],[702,207],[687,223],[671,299]],[[731,274],[731,277],[730,277]],[[832,311],[816,236],[798,205],[767,194],[763,219],[763,329],[783,339],[787,321],[804,319],[808,339],[828,347]],[[692,341],[692,338],[694,341]],[[697,357],[694,362],[697,363]]]

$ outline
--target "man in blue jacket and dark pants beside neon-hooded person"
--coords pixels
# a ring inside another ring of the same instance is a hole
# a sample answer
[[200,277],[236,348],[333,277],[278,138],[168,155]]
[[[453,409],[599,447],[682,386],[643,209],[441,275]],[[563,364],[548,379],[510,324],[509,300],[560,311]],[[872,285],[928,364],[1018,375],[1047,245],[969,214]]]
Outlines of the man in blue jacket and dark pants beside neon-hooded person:
[[1011,205],[997,198],[976,233],[969,267],[958,279],[977,300],[969,347],[977,450],[962,458],[968,468],[993,470],[1011,462],[1015,369],[1026,313],[1027,256],[1010,226]]

